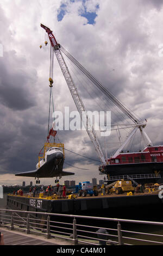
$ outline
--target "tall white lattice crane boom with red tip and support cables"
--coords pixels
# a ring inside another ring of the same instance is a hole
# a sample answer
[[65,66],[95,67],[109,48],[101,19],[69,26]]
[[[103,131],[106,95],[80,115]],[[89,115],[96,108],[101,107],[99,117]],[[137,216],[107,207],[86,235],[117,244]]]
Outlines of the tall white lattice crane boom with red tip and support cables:
[[[127,137],[126,141],[123,142],[120,148],[116,151],[116,153],[112,156],[112,158],[116,158],[118,154],[121,153],[122,149],[127,145],[127,143],[130,141],[130,139],[135,135],[135,132],[139,129],[142,135],[142,138],[144,141],[147,141],[147,145],[152,145],[151,139],[147,136],[146,132],[144,131],[144,128],[147,124],[147,121],[141,121],[139,120],[133,113],[131,113],[125,106],[122,105],[120,101],[118,101],[114,95],[112,95],[104,86],[102,86],[101,83],[99,83],[98,80],[96,80],[95,77],[93,77],[76,59],[74,59],[70,53],[68,53],[64,47],[62,47],[60,44],[58,44],[57,40],[55,39],[55,36],[51,29],[41,24],[41,27],[45,29],[45,31],[48,34],[49,40],[51,42],[51,46],[54,50],[55,56],[57,57],[58,63],[60,65],[62,74],[65,77],[66,83],[68,88],[70,89],[71,95],[73,97],[74,103],[76,104],[76,107],[78,109],[78,112],[80,114],[80,117],[84,116],[83,113],[86,113],[86,108],[84,106],[84,103],[79,96],[78,90],[73,82],[73,78],[70,74],[70,71],[68,70],[68,67],[65,63],[64,57],[62,56],[63,52],[82,72],[84,75],[86,75],[94,84],[97,86],[108,98],[118,107],[121,109],[121,111],[127,115],[127,117],[132,121],[132,131],[130,132],[129,136]],[[99,156],[99,159],[101,160],[103,165],[106,165],[106,160],[103,154],[103,150],[101,147],[101,144],[99,143],[99,139],[97,137],[97,134],[95,132],[95,129],[93,128],[91,121],[89,117],[86,115],[86,131],[89,135],[92,143],[95,146],[95,149],[97,151],[97,154]]]

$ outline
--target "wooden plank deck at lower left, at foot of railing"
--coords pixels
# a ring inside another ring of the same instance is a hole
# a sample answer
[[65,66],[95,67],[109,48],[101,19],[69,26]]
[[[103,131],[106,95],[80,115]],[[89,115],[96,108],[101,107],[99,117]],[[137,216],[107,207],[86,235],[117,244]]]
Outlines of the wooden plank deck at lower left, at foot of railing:
[[4,236],[4,245],[72,245],[72,243],[59,239],[46,239],[40,235],[26,235],[21,231],[10,231],[7,228],[1,228]]

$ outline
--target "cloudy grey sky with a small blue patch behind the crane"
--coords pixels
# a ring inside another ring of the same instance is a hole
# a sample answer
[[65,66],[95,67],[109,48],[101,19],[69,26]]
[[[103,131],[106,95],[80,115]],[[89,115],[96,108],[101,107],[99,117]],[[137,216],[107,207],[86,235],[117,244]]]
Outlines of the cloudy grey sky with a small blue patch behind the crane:
[[[40,23],[51,28],[58,42],[111,93],[141,119],[148,119],[146,131],[153,144],[163,142],[162,1],[2,0],[0,185],[34,182],[15,174],[35,169],[38,153],[46,142],[50,47],[49,43],[44,45],[47,37]],[[90,96],[82,87],[79,91],[90,105],[95,104],[90,90]],[[56,59],[53,96],[55,109],[63,111],[64,106],[69,106],[76,110]],[[59,131],[58,137],[66,149],[99,161],[86,132]],[[99,162],[69,151],[65,161],[85,170],[65,164],[64,169],[76,175],[62,178],[61,182],[102,178],[98,174]],[[41,180],[43,184],[49,182]]]

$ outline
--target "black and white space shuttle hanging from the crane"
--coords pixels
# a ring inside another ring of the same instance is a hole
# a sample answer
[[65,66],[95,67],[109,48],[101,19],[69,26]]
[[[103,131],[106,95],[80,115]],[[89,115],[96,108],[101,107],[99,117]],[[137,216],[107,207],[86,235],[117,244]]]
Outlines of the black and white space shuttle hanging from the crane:
[[43,159],[36,164],[35,170],[29,172],[17,173],[15,176],[34,177],[36,183],[40,183],[39,178],[53,178],[56,177],[55,182],[58,182],[57,178],[61,176],[74,175],[71,172],[65,172],[64,166],[64,154],[58,147],[52,147],[46,151]]

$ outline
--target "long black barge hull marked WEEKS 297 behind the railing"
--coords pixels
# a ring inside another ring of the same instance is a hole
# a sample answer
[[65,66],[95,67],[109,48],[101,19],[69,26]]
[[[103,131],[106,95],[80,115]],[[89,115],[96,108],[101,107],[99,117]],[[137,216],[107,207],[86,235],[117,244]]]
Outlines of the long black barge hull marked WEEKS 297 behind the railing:
[[[114,218],[135,218],[151,220],[162,218],[163,199],[159,192],[137,193],[133,196],[106,195],[73,199],[46,199],[28,196],[7,196],[7,208],[13,210],[51,212],[57,214],[76,214]],[[33,217],[37,218],[35,213]],[[43,216],[42,216],[43,218]]]

